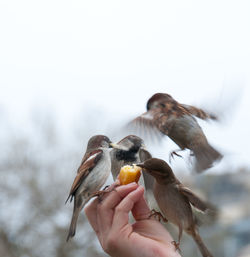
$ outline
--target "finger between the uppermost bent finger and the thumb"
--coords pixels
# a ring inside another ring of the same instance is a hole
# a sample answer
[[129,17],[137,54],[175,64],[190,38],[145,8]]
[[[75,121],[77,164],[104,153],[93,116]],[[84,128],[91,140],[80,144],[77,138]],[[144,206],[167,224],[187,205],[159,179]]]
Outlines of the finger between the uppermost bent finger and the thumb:
[[143,196],[144,188],[139,186],[136,190],[130,192],[115,208],[112,223],[112,231],[118,233],[125,225],[128,224],[129,212],[135,203]]

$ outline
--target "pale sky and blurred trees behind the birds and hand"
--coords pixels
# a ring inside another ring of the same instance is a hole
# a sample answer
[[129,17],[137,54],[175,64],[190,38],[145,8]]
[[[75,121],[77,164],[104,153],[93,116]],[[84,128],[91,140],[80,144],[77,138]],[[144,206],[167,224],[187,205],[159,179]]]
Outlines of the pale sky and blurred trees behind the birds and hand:
[[[195,176],[187,153],[171,165],[219,210],[200,228],[214,256],[250,256],[249,12],[247,0],[1,0],[0,256],[107,256],[84,213],[66,243],[64,202],[89,137],[121,139],[156,92],[219,115],[199,123],[223,160]],[[177,148],[146,143],[167,161]],[[181,249],[200,256],[187,236]]]

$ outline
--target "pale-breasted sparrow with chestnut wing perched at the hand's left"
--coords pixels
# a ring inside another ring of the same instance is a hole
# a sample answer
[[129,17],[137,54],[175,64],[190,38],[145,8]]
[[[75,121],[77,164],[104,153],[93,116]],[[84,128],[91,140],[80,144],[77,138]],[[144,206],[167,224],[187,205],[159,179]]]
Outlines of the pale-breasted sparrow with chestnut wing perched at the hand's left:
[[75,235],[77,219],[85,204],[95,196],[95,193],[106,182],[110,170],[111,141],[104,135],[96,135],[89,139],[86,153],[77,170],[77,175],[71,186],[65,203],[74,199],[73,215],[67,241]]

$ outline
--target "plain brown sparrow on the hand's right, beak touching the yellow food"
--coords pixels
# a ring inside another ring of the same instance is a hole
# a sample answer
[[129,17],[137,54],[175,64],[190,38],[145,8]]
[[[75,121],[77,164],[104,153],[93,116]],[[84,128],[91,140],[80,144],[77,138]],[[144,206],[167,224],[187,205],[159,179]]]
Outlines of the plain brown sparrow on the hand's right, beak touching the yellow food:
[[191,205],[205,212],[209,209],[207,203],[185,187],[175,177],[170,166],[163,160],[152,158],[136,164],[154,177],[154,197],[163,217],[179,228],[178,242],[173,242],[179,249],[183,230],[193,237],[203,257],[213,257],[202,241],[197,228]]

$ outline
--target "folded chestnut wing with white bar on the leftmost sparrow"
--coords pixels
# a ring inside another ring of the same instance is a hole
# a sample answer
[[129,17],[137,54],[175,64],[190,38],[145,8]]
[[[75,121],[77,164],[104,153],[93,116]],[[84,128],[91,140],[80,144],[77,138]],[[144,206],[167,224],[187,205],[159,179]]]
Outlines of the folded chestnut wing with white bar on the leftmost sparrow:
[[76,190],[81,185],[82,181],[88,176],[90,171],[96,166],[98,161],[101,159],[103,155],[103,151],[98,149],[90,152],[86,157],[83,159],[80,167],[77,170],[77,175],[75,177],[75,180],[71,186],[69,196],[66,200],[66,202],[71,197],[70,201],[72,201],[72,197],[74,196]]

